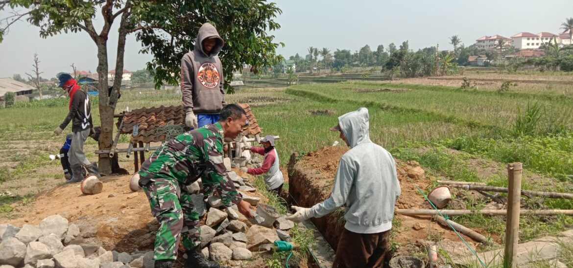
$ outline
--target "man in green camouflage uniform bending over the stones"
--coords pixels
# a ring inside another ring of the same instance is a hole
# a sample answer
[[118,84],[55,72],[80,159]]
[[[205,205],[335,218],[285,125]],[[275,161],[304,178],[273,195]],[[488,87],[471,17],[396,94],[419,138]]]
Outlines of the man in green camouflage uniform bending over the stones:
[[199,214],[186,192],[186,186],[199,178],[205,196],[217,190],[225,207],[237,204],[242,214],[252,218],[250,204],[238,194],[223,163],[223,138],[234,139],[246,126],[245,111],[236,104],[227,105],[217,123],[167,141],[143,163],[139,185],[159,221],[155,267],[172,267],[181,240],[187,253],[185,267],[219,267],[201,253]]

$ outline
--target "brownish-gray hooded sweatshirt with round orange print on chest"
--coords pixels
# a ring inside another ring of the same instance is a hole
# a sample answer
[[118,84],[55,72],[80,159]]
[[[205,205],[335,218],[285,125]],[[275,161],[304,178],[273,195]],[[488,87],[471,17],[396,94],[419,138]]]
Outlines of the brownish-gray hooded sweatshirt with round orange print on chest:
[[[215,38],[215,46],[209,53],[203,50],[203,40]],[[203,23],[195,39],[195,48],[181,59],[181,92],[183,108],[195,114],[215,115],[225,103],[223,92],[223,68],[217,54],[225,41],[210,23]]]

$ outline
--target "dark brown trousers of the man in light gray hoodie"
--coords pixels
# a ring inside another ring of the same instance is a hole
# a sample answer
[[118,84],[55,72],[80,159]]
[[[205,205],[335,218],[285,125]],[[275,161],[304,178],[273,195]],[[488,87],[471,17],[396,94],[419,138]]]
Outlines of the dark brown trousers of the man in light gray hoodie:
[[358,234],[344,228],[332,267],[383,267],[389,239],[390,230]]

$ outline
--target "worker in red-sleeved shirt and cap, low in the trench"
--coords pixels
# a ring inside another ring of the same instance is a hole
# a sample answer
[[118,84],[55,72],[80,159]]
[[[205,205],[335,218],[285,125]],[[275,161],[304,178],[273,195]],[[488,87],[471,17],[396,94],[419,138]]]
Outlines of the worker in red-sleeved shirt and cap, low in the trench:
[[266,189],[269,192],[274,192],[274,194],[280,196],[284,178],[282,178],[282,172],[279,170],[280,165],[278,164],[277,149],[274,148],[274,137],[272,135],[266,135],[261,140],[261,144],[262,147],[251,147],[250,143],[247,143],[245,145],[245,149],[250,149],[251,152],[258,153],[259,155],[264,155],[265,160],[262,162],[262,166],[260,168],[244,167],[241,168],[241,171],[252,175],[260,175],[266,173]]

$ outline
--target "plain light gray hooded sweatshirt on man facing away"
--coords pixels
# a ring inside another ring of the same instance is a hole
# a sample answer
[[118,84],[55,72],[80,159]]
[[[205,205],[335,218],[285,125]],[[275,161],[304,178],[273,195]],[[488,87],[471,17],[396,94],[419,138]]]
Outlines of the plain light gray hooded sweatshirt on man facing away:
[[374,234],[390,230],[394,204],[401,193],[394,158],[370,140],[368,109],[346,113],[338,121],[351,149],[339,161],[331,196],[313,206],[311,216],[321,217],[345,206],[348,231]]

